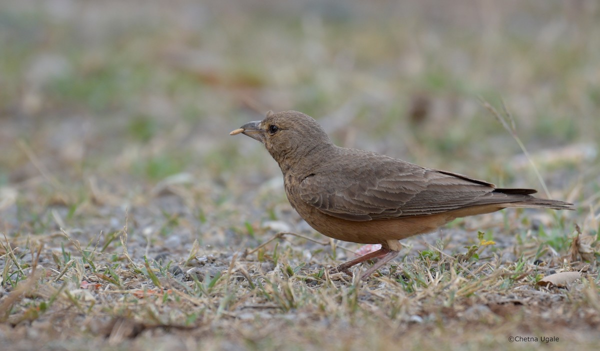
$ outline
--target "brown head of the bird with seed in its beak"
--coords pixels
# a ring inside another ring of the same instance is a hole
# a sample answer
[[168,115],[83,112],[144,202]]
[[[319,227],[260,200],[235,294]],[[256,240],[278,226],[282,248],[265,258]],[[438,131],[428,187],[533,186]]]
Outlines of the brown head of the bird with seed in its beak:
[[297,111],[269,111],[262,121],[248,122],[230,134],[239,133],[262,142],[282,169],[283,163],[310,157],[333,145],[317,121]]

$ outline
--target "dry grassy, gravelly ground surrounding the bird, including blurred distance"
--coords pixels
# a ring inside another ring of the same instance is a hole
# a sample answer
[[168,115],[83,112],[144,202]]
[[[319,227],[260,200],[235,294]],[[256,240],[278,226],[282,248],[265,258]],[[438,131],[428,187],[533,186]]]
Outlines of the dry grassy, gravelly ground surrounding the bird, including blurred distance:
[[[23,0],[0,48],[3,349],[600,343],[596,1]],[[288,109],[575,211],[456,220],[368,281],[329,274],[361,245],[229,136]]]

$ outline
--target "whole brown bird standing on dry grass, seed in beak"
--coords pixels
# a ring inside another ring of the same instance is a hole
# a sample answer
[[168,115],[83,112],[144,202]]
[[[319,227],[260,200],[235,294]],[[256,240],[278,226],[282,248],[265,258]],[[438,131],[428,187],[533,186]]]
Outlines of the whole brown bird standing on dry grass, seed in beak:
[[398,242],[433,232],[458,217],[507,207],[573,209],[571,203],[533,197],[532,189],[503,189],[445,170],[334,145],[323,128],[301,112],[269,111],[230,135],[243,133],[265,145],[283,172],[287,199],[317,232],[380,250],[342,263],[335,271],[382,257],[367,278],[400,251]]

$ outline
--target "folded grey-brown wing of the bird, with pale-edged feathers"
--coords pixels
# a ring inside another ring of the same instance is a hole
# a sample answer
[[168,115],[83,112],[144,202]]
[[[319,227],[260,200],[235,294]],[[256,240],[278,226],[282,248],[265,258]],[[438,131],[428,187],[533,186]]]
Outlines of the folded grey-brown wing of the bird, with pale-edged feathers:
[[352,169],[329,167],[307,176],[298,187],[300,198],[325,214],[352,221],[431,215],[513,201],[511,194],[495,192],[496,187],[488,182],[394,158],[352,164]]

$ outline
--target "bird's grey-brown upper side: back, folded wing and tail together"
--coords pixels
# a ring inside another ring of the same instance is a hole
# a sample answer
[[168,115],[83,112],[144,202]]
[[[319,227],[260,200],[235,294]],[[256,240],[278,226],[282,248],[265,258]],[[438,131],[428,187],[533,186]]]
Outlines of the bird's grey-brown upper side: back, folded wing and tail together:
[[[458,173],[426,169],[397,158],[334,146],[329,157],[305,162],[286,189],[324,214],[350,221],[433,215],[462,209],[478,214],[504,207],[568,209],[571,204],[537,199],[532,189],[499,189]],[[292,179],[286,177],[286,179]],[[290,199],[291,200],[291,199]],[[479,207],[479,209],[478,209]]]

